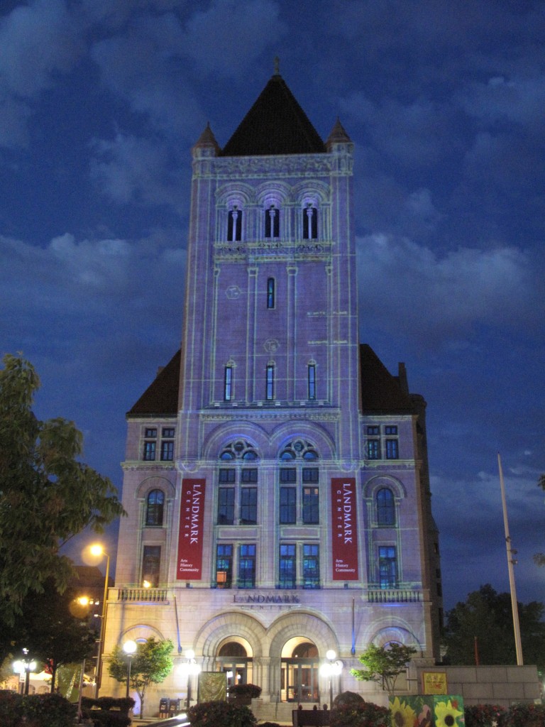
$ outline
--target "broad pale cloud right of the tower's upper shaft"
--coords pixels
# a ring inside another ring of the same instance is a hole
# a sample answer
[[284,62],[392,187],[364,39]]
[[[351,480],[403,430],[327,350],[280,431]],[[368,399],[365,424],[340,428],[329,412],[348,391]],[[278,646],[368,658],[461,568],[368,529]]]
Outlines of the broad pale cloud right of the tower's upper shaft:
[[374,234],[358,238],[358,275],[366,321],[392,332],[401,328],[419,345],[470,337],[476,324],[532,320],[528,260],[513,247],[440,256],[407,238]]

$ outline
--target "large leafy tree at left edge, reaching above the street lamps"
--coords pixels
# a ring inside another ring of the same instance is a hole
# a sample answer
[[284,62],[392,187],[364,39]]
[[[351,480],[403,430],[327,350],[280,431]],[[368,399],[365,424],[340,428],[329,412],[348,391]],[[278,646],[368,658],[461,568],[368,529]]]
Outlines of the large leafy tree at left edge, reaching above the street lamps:
[[39,377],[7,354],[0,369],[0,624],[13,624],[28,593],[52,578],[64,590],[71,561],[59,550],[89,527],[124,514],[108,478],[79,461],[83,437],[73,422],[41,422],[32,411]]

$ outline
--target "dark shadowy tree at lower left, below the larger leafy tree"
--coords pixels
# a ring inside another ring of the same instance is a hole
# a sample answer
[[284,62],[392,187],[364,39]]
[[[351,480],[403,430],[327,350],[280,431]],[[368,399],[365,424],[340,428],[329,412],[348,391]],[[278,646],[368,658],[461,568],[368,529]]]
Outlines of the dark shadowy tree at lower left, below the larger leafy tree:
[[7,656],[17,658],[27,649],[31,659],[51,670],[51,691],[55,691],[58,668],[81,663],[94,651],[95,632],[86,618],[73,615],[74,600],[72,590],[59,593],[52,579],[44,584],[43,593],[28,595],[12,626],[1,630],[0,662]]

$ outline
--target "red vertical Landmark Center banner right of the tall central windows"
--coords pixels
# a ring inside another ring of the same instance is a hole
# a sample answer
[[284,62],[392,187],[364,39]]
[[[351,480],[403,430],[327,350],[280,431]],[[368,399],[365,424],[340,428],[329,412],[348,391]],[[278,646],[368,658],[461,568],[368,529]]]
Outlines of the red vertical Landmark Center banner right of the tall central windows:
[[356,481],[331,479],[331,540],[334,581],[358,580]]

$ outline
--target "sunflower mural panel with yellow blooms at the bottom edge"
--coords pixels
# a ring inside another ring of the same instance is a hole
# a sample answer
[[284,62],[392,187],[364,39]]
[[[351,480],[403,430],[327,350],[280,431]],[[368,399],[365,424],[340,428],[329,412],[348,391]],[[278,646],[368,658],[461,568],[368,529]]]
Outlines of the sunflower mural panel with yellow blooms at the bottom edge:
[[456,694],[389,699],[392,727],[464,727],[464,699]]

